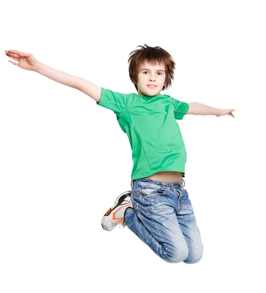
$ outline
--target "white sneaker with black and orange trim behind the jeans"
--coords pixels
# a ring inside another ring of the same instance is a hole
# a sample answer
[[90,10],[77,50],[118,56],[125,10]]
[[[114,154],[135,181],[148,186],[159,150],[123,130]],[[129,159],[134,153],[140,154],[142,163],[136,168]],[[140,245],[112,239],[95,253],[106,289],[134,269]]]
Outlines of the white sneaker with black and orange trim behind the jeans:
[[124,212],[127,208],[132,208],[131,191],[125,191],[116,199],[114,206],[106,211],[102,217],[102,228],[106,231],[113,230],[118,224],[124,228]]

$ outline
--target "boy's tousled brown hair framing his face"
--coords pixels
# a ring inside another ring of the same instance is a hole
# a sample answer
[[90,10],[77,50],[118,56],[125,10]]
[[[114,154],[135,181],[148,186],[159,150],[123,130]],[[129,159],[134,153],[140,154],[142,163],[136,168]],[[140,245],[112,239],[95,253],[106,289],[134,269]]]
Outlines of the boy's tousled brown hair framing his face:
[[175,62],[172,56],[161,47],[150,47],[147,44],[144,44],[144,46],[138,46],[142,48],[134,50],[129,54],[129,56],[132,54],[128,58],[128,70],[131,82],[138,90],[138,86],[136,83],[138,82],[139,66],[141,63],[147,61],[152,65],[156,65],[157,63],[165,65],[165,86],[162,90],[169,88],[172,85],[172,80],[174,80],[175,70]]

